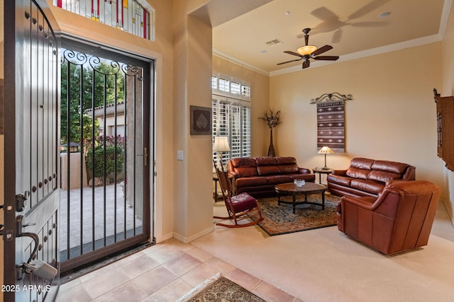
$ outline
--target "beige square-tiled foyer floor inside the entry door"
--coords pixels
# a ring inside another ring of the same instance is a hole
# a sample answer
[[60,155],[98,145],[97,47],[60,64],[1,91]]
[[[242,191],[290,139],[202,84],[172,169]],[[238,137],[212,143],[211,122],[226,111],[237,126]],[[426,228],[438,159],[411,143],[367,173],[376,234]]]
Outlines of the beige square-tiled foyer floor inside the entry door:
[[217,272],[265,301],[300,301],[190,243],[175,239],[62,284],[56,301],[176,301]]

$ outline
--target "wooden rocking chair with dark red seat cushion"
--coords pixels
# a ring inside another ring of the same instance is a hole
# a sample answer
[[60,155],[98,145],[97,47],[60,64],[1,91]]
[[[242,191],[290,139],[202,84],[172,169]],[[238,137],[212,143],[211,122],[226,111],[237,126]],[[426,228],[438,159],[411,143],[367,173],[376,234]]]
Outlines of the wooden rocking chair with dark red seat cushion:
[[[227,228],[240,228],[243,226],[253,226],[256,223],[259,223],[263,220],[262,212],[258,206],[257,199],[250,196],[248,193],[241,193],[238,195],[233,195],[232,182],[228,179],[228,172],[224,171],[223,166],[221,165],[221,170],[216,167],[216,162],[213,161],[214,168],[216,169],[216,174],[218,175],[219,185],[221,185],[221,192],[224,202],[226,203],[226,208],[228,211],[228,217],[214,216],[216,219],[233,219],[235,224],[226,224],[218,222],[216,226],[226,226]],[[255,209],[258,211],[259,218],[248,223],[240,223],[238,221],[243,219],[252,219],[252,217],[247,216]]]

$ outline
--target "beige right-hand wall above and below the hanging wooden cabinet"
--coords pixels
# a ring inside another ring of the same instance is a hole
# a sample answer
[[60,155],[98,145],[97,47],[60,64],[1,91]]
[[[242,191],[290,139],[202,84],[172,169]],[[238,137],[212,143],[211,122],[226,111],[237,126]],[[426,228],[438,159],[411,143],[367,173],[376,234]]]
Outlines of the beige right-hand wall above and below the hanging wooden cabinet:
[[[441,47],[441,59],[443,62],[443,87],[438,88],[441,96],[454,95],[454,6],[451,11],[446,25],[445,35]],[[451,221],[454,223],[454,172],[444,169],[445,187],[448,187],[449,200],[448,213]]]

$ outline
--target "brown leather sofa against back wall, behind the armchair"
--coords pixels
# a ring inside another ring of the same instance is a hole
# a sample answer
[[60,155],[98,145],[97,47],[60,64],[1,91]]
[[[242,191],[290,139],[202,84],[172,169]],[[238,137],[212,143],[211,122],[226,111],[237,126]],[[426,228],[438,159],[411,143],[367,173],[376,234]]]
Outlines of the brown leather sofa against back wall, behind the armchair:
[[415,167],[396,161],[353,158],[347,170],[334,170],[326,178],[328,191],[338,196],[377,197],[389,180],[415,180]]

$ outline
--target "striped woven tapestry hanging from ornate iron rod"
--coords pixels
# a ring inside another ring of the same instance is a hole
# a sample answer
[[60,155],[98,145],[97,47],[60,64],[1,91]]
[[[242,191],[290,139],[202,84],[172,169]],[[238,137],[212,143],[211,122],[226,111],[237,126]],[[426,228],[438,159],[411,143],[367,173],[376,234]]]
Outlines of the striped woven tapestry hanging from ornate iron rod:
[[328,146],[336,153],[345,152],[345,100],[351,95],[325,93],[311,100],[317,104],[317,150]]

